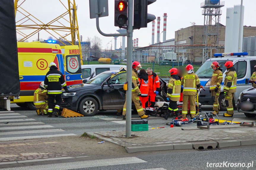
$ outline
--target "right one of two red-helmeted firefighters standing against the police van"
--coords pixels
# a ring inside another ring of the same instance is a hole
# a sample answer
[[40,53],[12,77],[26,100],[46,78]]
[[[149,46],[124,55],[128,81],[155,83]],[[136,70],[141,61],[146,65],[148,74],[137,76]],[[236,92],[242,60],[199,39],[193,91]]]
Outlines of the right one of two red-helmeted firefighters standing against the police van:
[[226,77],[224,80],[224,96],[225,96],[225,103],[227,106],[227,113],[224,113],[224,117],[233,117],[234,114],[234,107],[235,99],[234,93],[236,92],[236,69],[233,67],[232,61],[227,61],[224,66],[227,68],[227,72],[225,73]]

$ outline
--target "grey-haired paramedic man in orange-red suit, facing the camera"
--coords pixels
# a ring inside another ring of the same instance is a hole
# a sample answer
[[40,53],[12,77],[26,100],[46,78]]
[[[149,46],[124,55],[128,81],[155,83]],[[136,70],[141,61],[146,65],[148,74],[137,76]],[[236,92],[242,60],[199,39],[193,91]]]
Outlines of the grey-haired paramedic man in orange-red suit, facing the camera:
[[155,106],[155,96],[158,95],[160,91],[160,80],[156,73],[153,72],[152,68],[147,68],[148,75],[148,96],[147,102],[145,104],[146,114],[153,116],[154,106]]

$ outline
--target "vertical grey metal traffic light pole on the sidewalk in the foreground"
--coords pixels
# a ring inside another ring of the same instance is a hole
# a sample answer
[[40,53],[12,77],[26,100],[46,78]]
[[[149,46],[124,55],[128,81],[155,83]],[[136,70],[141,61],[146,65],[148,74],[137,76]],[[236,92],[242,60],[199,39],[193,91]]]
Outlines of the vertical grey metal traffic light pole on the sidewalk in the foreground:
[[126,126],[125,135],[131,137],[131,88],[132,88],[132,37],[133,37],[133,0],[128,0],[128,30],[127,30],[127,73],[128,90],[126,91]]

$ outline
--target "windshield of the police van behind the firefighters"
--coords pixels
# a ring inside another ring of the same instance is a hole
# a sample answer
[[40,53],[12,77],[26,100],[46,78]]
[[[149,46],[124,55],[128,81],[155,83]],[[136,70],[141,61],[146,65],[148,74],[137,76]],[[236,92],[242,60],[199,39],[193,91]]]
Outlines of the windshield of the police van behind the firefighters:
[[[195,74],[198,75],[199,78],[212,78],[212,72],[214,71],[211,67],[213,61],[206,61],[203,65],[196,71]],[[224,66],[225,60],[217,61],[222,69],[222,73],[225,72],[226,67]]]

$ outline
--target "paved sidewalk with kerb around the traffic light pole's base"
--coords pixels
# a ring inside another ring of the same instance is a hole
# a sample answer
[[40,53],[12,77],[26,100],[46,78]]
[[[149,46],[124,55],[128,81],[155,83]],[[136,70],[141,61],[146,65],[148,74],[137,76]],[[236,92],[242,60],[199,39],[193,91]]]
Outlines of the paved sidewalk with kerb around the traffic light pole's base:
[[125,137],[125,131],[92,132],[88,134],[123,146],[128,153],[134,153],[256,145],[255,127],[243,127],[239,124],[215,125],[211,126],[209,130],[196,127],[165,127],[160,129],[149,127],[148,131],[131,132],[131,137]]

